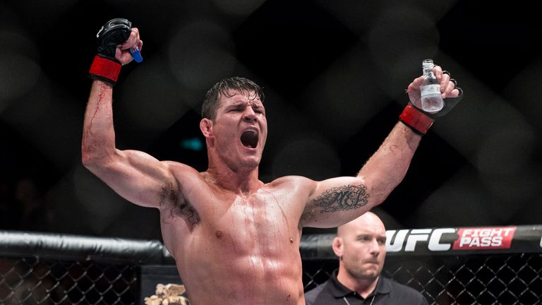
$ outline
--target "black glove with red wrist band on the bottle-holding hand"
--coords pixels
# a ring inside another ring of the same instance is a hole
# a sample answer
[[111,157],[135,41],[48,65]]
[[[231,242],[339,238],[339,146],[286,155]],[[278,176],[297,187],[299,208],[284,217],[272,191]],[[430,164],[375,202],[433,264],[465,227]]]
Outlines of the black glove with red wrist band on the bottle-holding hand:
[[412,131],[423,136],[429,130],[430,126],[436,118],[445,116],[455,105],[463,98],[463,90],[457,87],[457,81],[450,79],[455,84],[455,89],[459,90],[457,97],[447,97],[444,99],[444,107],[440,112],[429,113],[421,109],[421,105],[415,105],[411,102],[406,105],[402,114],[399,116],[399,121],[402,121],[406,126],[409,126]]

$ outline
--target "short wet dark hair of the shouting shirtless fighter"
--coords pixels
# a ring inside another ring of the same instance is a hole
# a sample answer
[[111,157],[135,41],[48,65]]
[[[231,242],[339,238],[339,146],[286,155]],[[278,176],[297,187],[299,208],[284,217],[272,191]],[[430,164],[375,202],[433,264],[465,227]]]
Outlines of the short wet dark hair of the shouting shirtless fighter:
[[[224,78],[210,88],[205,97],[203,98],[203,104],[201,106],[201,116],[205,119],[215,121],[218,109],[218,96],[224,95],[231,97],[229,90],[237,90],[239,92],[255,92],[257,97],[260,97],[260,101],[263,102],[263,88],[254,83],[248,78],[233,77]],[[255,97],[254,97],[255,98]]]

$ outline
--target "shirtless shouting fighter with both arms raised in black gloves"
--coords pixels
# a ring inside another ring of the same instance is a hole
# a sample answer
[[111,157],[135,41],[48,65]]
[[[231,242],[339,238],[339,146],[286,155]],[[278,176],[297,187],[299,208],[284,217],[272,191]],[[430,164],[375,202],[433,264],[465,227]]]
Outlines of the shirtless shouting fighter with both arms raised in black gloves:
[[[267,138],[260,87],[245,78],[222,80],[207,92],[200,129],[208,169],[159,161],[115,147],[113,84],[141,47],[128,20],[112,20],[98,33],[85,112],[83,164],[128,201],[160,211],[164,244],[175,258],[193,305],[305,304],[299,242],[303,227],[337,227],[384,201],[409,167],[433,122],[410,104],[356,177],[313,181],[258,179]],[[440,67],[442,97],[457,97]],[[408,87],[420,99],[423,78]],[[454,103],[448,103],[454,104]]]

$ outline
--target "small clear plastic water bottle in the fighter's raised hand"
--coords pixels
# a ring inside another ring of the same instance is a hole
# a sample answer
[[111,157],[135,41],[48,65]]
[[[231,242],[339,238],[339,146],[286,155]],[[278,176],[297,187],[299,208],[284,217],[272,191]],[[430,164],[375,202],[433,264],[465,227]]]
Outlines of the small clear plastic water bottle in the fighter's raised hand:
[[421,66],[423,67],[423,78],[426,79],[421,86],[421,109],[429,113],[440,112],[444,107],[444,102],[440,96],[440,84],[433,73],[435,66],[433,59],[423,59]]

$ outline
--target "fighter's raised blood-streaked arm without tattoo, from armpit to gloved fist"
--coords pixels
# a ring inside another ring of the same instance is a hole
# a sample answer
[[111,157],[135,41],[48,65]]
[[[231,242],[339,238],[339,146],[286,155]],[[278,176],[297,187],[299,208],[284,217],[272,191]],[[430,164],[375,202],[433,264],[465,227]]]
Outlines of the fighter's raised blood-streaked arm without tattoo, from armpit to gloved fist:
[[[100,40],[102,35],[102,40]],[[90,68],[92,88],[85,111],[83,165],[119,195],[138,205],[158,207],[164,186],[176,188],[169,164],[135,150],[118,150],[113,128],[113,85],[130,47],[142,47],[128,20],[111,20],[98,33],[98,55]]]

